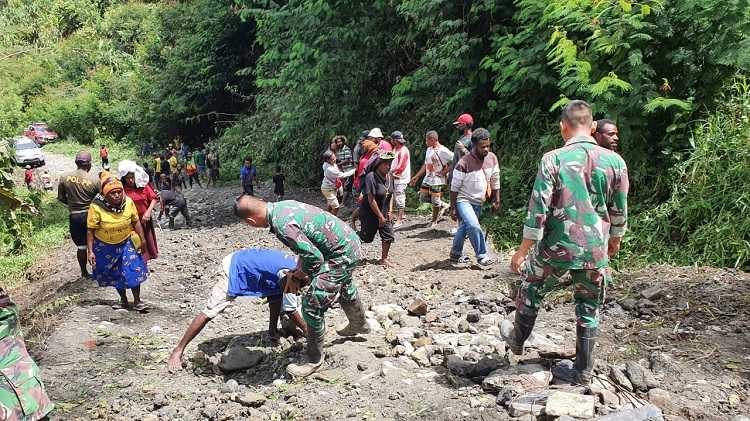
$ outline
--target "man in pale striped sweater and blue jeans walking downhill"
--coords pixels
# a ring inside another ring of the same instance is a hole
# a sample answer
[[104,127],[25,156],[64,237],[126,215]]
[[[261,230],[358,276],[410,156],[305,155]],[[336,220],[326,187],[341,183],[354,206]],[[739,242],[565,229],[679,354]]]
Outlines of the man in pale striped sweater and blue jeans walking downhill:
[[500,165],[497,156],[490,152],[489,131],[477,129],[471,135],[471,143],[471,152],[464,155],[453,169],[450,209],[459,226],[450,258],[453,263],[469,263],[469,257],[463,254],[464,240],[468,236],[479,266],[489,267],[495,259],[487,252],[487,238],[479,224],[479,216],[488,199],[495,211],[500,209]]

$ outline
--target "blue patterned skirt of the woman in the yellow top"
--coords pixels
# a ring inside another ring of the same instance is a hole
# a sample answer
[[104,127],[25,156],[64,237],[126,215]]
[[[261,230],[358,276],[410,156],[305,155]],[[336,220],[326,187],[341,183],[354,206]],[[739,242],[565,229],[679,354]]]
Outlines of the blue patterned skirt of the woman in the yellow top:
[[146,262],[130,239],[108,244],[94,238],[94,256],[96,265],[92,276],[100,287],[135,288],[148,279]]

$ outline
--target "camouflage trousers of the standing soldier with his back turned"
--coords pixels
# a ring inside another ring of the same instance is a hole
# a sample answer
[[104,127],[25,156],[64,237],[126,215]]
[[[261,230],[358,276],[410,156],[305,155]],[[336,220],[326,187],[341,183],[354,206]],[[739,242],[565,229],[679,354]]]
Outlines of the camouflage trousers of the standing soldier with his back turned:
[[[570,281],[563,280],[570,273]],[[526,260],[525,279],[516,295],[516,311],[536,315],[544,297],[550,292],[573,285],[576,320],[580,326],[599,326],[599,308],[604,303],[606,287],[611,282],[608,268],[562,269],[538,256]]]

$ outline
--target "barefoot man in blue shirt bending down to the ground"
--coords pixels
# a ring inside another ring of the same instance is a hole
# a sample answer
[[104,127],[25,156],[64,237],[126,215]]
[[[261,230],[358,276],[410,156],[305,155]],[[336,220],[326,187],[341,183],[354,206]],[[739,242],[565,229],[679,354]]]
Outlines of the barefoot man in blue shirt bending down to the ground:
[[299,312],[295,294],[285,294],[286,277],[297,267],[297,257],[270,249],[242,249],[221,262],[218,280],[214,284],[206,307],[188,326],[180,343],[172,350],[167,360],[169,371],[182,368],[185,347],[206,326],[209,320],[224,311],[237,297],[266,297],[270,313],[268,334],[278,340],[279,314],[289,316],[298,328],[307,335],[307,324]]

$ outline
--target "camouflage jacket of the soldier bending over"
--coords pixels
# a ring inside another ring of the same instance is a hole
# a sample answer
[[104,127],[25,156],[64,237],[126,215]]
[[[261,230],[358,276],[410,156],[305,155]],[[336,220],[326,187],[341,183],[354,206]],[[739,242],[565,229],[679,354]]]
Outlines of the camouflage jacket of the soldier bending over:
[[315,206],[285,200],[268,204],[271,232],[300,257],[310,276],[335,265],[359,263],[364,254],[359,236],[347,223]]

